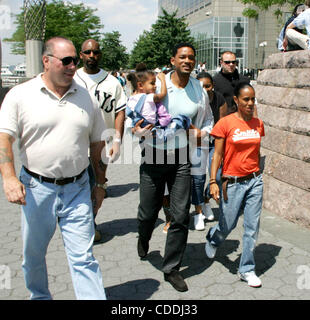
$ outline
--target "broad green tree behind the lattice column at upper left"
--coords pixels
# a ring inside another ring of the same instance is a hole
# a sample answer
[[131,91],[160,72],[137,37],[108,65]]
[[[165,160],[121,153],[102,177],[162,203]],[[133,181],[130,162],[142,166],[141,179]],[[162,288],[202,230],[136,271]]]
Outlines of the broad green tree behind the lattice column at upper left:
[[[94,15],[96,9],[86,7],[83,3],[56,1],[46,5],[46,32],[45,39],[53,36],[69,38],[74,43],[77,51],[81,44],[88,38],[99,40],[100,29],[103,27],[100,18]],[[13,54],[25,54],[24,9],[16,15],[17,29],[11,38],[3,41],[12,42]]]

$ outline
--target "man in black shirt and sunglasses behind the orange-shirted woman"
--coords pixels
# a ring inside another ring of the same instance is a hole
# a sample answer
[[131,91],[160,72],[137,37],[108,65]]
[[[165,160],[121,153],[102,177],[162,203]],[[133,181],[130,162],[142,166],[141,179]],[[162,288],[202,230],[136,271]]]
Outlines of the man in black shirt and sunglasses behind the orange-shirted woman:
[[225,51],[221,55],[221,71],[213,77],[214,90],[220,92],[227,103],[227,114],[237,111],[234,103],[234,89],[239,82],[250,83],[248,77],[243,76],[236,69],[236,55],[231,51]]

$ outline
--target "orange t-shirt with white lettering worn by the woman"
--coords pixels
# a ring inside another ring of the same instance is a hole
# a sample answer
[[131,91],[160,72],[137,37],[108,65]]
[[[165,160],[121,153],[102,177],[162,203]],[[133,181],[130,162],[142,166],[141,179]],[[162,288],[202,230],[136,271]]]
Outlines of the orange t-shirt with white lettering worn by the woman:
[[259,170],[261,137],[265,135],[260,119],[239,119],[235,114],[221,118],[211,132],[225,139],[223,175],[243,177]]

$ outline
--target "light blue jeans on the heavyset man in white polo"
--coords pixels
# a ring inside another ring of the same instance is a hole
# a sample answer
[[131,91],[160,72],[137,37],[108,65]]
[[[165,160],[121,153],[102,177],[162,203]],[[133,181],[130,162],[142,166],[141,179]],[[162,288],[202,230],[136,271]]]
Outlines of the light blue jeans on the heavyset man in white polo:
[[52,299],[48,289],[46,252],[58,223],[77,299],[106,299],[102,275],[92,253],[94,222],[88,174],[59,186],[40,182],[22,168],[26,187],[22,206],[23,272],[31,299]]

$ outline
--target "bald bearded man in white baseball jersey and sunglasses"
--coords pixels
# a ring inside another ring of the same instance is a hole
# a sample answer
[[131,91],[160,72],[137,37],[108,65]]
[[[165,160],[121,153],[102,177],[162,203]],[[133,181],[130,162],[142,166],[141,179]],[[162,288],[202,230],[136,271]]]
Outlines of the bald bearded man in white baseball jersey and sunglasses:
[[[103,112],[107,129],[105,135],[107,157],[103,154],[104,159],[101,165],[106,172],[108,162],[113,163],[120,156],[127,98],[120,82],[99,68],[101,57],[102,52],[96,40],[84,41],[80,52],[83,67],[77,70],[74,79],[88,90],[94,105]],[[91,168],[89,168],[89,173],[92,184]],[[106,188],[106,184],[104,187]],[[100,233],[96,231],[95,241],[99,241],[100,238]]]

